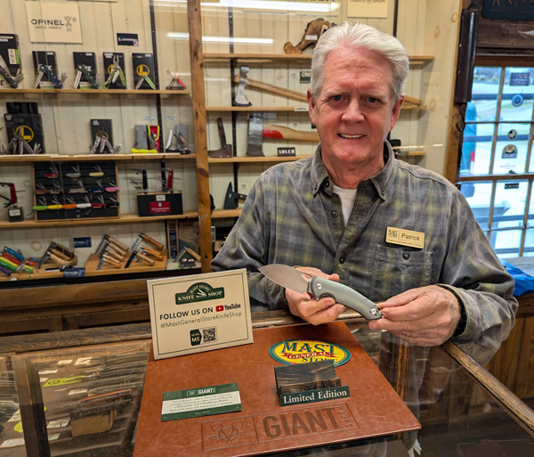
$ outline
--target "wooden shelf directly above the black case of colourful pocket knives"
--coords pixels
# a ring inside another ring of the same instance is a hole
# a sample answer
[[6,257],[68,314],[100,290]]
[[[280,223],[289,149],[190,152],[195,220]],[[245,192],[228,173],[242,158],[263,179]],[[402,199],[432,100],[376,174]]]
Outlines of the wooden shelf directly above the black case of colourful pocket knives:
[[87,162],[87,161],[132,161],[160,160],[160,159],[195,159],[195,154],[175,154],[173,152],[158,152],[157,154],[21,154],[0,156],[0,163],[9,162]]

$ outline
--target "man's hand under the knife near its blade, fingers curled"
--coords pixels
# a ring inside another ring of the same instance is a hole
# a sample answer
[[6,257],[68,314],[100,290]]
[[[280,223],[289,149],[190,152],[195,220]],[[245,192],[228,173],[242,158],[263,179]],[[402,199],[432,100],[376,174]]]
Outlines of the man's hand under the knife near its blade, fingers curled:
[[[297,270],[339,282],[339,274],[326,274],[317,268],[310,267],[299,267]],[[286,289],[286,299],[291,314],[312,323],[312,325],[335,321],[337,316],[344,312],[344,306],[336,304],[334,298],[330,297],[317,300],[312,294],[301,294],[295,292],[295,290]]]

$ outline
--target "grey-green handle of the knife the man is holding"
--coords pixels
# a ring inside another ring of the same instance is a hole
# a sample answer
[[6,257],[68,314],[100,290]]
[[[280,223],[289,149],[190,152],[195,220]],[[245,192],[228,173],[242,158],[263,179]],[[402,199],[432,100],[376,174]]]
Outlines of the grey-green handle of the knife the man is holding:
[[314,277],[310,284],[312,294],[316,298],[332,297],[336,303],[341,303],[348,306],[355,311],[358,311],[368,321],[373,319],[380,319],[382,313],[368,298],[365,298],[360,292],[345,286],[339,282],[330,281],[328,279]]

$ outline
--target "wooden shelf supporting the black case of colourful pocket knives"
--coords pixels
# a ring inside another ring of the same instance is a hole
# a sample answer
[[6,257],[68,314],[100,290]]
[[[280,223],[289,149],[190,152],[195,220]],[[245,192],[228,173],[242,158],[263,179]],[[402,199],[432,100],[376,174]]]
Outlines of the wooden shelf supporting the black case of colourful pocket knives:
[[140,217],[136,214],[125,214],[120,217],[106,217],[101,219],[55,219],[51,221],[39,221],[34,219],[21,221],[21,222],[6,222],[0,221],[0,229],[3,228],[39,228],[39,227],[65,227],[73,225],[101,225],[101,224],[132,224],[134,222],[153,222],[153,221],[165,221],[167,219],[190,219],[197,218],[197,211],[186,211],[181,215],[174,216],[147,216]]

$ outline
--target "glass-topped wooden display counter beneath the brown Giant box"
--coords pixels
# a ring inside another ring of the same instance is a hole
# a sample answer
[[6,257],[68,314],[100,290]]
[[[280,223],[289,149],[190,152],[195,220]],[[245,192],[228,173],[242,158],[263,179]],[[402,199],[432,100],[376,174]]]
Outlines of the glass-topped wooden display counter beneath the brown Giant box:
[[[297,450],[295,439],[284,455],[534,453],[532,409],[456,345],[412,347],[369,331],[354,312],[341,320],[421,429],[336,445],[325,436],[320,450]],[[284,312],[253,314],[254,329],[302,323]],[[150,342],[149,323],[0,339],[0,457],[133,454]]]

